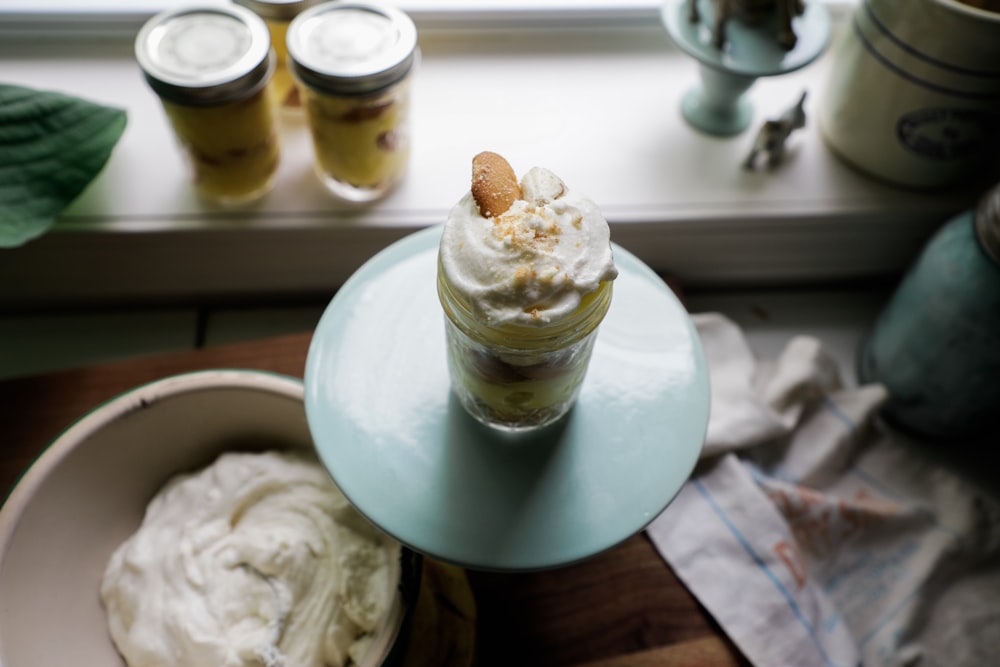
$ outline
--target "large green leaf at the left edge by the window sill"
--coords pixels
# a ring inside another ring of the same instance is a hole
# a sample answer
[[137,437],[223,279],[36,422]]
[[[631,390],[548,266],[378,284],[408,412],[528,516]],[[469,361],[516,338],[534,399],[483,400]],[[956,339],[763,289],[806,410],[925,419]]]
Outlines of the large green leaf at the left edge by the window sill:
[[0,84],[0,248],[43,234],[104,168],[123,109]]

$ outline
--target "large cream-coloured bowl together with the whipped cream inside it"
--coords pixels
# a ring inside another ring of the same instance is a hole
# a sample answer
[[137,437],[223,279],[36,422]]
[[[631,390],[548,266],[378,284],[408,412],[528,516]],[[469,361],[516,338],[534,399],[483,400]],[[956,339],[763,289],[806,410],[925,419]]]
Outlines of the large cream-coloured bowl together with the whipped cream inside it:
[[0,664],[382,665],[421,559],[316,457],[301,380],[169,376],[100,405],[0,511]]

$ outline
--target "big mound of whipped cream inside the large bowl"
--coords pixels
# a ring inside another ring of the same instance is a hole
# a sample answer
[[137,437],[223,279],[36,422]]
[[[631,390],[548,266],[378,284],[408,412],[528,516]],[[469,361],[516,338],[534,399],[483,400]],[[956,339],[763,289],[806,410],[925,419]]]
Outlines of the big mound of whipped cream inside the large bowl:
[[315,460],[227,453],[150,502],[101,599],[130,667],[345,665],[388,613],[399,549]]

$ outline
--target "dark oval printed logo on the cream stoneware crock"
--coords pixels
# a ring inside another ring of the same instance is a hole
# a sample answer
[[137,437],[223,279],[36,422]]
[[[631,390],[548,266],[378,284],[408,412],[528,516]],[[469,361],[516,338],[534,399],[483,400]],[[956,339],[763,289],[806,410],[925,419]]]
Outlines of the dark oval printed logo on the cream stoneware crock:
[[978,109],[919,109],[896,123],[906,148],[936,160],[968,157],[996,140],[998,116]]

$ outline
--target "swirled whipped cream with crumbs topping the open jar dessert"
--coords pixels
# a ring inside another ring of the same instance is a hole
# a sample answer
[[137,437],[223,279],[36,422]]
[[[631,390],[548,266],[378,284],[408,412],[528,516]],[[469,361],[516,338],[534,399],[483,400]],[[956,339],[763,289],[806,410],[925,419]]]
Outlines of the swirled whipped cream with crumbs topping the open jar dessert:
[[466,193],[441,237],[448,284],[488,326],[558,321],[618,275],[611,230],[594,202],[541,167],[520,185],[521,198],[493,218],[484,217]]

